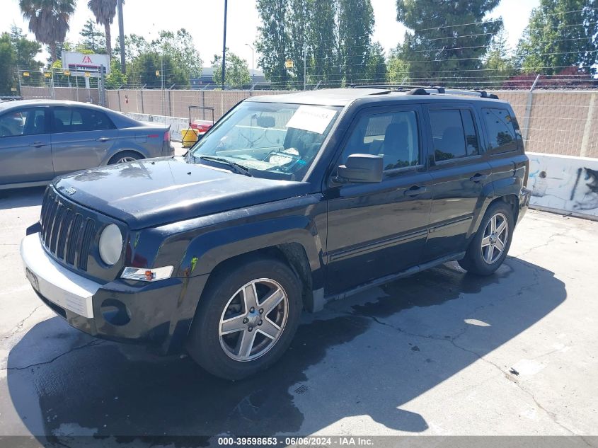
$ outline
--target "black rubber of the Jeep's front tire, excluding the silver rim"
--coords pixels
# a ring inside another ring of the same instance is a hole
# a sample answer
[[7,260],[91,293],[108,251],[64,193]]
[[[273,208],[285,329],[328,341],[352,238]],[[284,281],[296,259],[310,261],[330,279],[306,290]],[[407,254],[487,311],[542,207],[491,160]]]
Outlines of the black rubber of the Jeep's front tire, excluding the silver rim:
[[[219,324],[232,295],[243,285],[258,278],[270,278],[287,293],[287,323],[280,339],[265,355],[252,361],[231,359],[220,345]],[[299,326],[302,309],[301,283],[291,268],[280,260],[261,258],[242,263],[214,277],[200,298],[188,338],[188,352],[208,372],[225,379],[242,379],[266,369],[289,347]]]

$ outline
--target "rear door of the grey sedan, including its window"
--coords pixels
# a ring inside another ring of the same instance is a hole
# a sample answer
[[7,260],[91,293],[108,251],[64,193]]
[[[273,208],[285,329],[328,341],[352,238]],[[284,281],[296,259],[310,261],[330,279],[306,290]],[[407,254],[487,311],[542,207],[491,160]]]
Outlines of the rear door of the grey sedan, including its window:
[[54,107],[52,114],[56,175],[100,166],[118,137],[108,115],[85,107]]

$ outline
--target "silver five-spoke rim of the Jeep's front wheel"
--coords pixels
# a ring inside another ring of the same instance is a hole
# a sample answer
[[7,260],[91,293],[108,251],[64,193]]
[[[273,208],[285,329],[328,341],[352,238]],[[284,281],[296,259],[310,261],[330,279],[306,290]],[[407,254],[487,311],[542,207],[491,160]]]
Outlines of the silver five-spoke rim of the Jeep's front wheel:
[[274,280],[260,278],[243,285],[220,318],[222,350],[236,361],[265,355],[284,331],[288,310],[287,293]]

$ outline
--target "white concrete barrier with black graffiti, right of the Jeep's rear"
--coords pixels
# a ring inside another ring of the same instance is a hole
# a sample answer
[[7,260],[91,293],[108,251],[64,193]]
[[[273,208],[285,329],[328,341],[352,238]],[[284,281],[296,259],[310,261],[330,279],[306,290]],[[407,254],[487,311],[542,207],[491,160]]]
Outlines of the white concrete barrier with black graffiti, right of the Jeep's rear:
[[530,207],[598,220],[598,159],[528,152]]

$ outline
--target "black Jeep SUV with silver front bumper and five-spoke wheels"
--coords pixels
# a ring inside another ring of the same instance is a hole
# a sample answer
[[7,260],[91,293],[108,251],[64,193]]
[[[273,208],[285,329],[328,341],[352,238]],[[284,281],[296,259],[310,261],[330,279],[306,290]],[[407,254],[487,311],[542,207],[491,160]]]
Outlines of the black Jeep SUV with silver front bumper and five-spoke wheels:
[[239,379],[302,309],[459,260],[505,260],[529,203],[508,103],[347,88],[239,103],[184,157],[54,180],[21,243],[40,299],[101,338],[186,346]]

